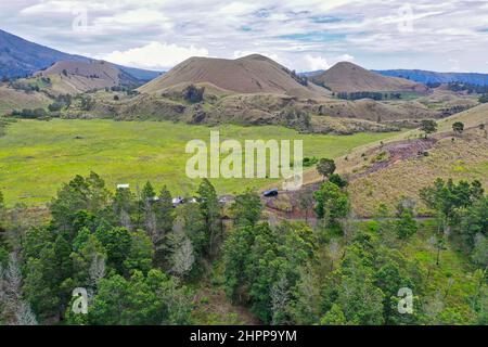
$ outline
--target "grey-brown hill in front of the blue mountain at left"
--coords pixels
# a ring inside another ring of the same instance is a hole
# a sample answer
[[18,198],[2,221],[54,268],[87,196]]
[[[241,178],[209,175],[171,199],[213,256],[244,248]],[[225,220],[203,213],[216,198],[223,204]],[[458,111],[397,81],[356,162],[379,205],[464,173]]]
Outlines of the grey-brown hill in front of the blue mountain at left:
[[61,61],[46,70],[36,73],[35,77],[49,78],[49,89],[54,93],[77,94],[94,89],[133,88],[140,85],[139,79],[104,61],[88,63]]

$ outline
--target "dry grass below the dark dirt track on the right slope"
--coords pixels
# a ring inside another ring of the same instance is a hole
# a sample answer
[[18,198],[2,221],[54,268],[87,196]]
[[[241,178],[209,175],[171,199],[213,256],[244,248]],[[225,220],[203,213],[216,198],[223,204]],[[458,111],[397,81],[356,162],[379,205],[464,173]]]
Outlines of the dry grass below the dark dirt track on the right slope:
[[[428,156],[414,156],[351,182],[348,191],[354,209],[360,216],[372,216],[380,203],[391,209],[401,195],[419,201],[418,211],[425,213],[420,203],[420,189],[437,177],[453,180],[479,180],[488,188],[488,139],[480,130],[457,138],[440,140]],[[367,162],[364,162],[367,163]]]

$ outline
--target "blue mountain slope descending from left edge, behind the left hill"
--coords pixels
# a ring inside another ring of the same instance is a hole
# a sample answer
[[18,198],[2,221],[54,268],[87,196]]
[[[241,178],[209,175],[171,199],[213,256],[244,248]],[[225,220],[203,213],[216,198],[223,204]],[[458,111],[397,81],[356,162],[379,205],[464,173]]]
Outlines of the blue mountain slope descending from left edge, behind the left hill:
[[[27,77],[60,61],[90,63],[93,60],[60,52],[0,29],[0,78]],[[142,82],[159,75],[157,72],[117,66]]]

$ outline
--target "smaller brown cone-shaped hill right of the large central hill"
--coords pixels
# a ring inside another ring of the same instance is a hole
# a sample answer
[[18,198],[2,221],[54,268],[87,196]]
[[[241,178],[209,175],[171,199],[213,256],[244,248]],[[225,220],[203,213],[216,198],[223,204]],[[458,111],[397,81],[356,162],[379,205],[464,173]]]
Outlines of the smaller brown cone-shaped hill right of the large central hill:
[[382,76],[349,62],[337,63],[311,80],[334,92],[426,91],[423,85]]

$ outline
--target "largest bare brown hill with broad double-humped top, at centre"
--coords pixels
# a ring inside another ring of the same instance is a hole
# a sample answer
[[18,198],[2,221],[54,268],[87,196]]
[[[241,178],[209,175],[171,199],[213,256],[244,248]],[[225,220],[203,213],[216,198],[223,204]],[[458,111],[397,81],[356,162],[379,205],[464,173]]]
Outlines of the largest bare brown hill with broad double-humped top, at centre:
[[157,93],[181,83],[211,83],[235,93],[277,93],[299,98],[325,95],[322,88],[277,62],[258,54],[236,60],[191,57],[167,74],[142,86],[139,91]]

